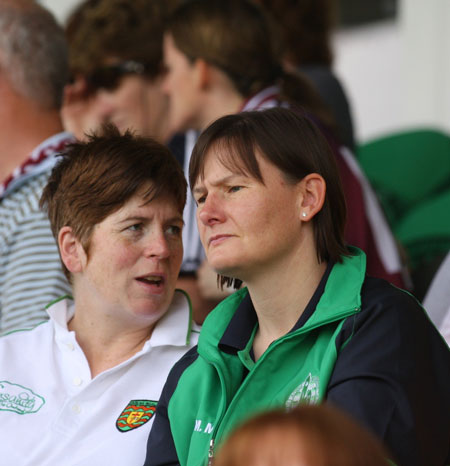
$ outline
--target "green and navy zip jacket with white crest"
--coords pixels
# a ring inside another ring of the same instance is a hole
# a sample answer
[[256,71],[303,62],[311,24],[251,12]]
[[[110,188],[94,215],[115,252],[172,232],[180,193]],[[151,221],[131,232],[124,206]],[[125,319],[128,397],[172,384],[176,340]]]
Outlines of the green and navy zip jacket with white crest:
[[328,265],[297,324],[256,362],[247,289],[217,306],[169,375],[146,466],[207,464],[248,417],[323,400],[372,430],[397,464],[446,464],[450,351],[417,301],[367,277],[353,252]]

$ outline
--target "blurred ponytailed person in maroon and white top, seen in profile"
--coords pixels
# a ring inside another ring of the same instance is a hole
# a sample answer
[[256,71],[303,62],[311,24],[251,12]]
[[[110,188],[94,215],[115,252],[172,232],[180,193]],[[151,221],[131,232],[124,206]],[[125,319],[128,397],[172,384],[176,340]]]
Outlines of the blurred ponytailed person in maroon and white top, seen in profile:
[[[313,86],[302,75],[283,70],[273,33],[265,12],[245,0],[194,0],[176,9],[164,37],[170,131],[202,130],[214,119],[240,111],[305,108],[324,131],[338,163],[348,206],[346,241],[366,252],[369,274],[405,287],[397,245],[375,194],[339,142],[333,118]],[[191,150],[186,144],[186,159]],[[207,267],[200,272],[202,283],[214,283]]]

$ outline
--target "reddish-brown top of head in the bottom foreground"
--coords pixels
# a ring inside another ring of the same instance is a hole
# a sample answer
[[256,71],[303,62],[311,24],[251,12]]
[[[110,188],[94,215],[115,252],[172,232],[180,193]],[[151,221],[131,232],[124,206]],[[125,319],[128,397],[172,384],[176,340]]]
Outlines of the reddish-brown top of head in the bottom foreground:
[[238,427],[218,450],[214,466],[388,466],[381,443],[330,405],[270,411]]

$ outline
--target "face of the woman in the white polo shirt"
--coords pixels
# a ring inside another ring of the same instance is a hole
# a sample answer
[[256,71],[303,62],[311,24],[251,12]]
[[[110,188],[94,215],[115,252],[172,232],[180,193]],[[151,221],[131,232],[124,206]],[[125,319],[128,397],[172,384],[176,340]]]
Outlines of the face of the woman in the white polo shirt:
[[75,289],[108,315],[156,322],[172,301],[182,226],[174,201],[134,196],[94,227]]

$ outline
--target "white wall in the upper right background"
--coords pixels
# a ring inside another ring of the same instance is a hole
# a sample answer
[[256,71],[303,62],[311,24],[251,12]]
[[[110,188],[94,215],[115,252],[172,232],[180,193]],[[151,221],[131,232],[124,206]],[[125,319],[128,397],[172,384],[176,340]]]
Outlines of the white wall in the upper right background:
[[359,141],[404,128],[450,131],[448,0],[400,0],[395,21],[338,31],[335,53]]

